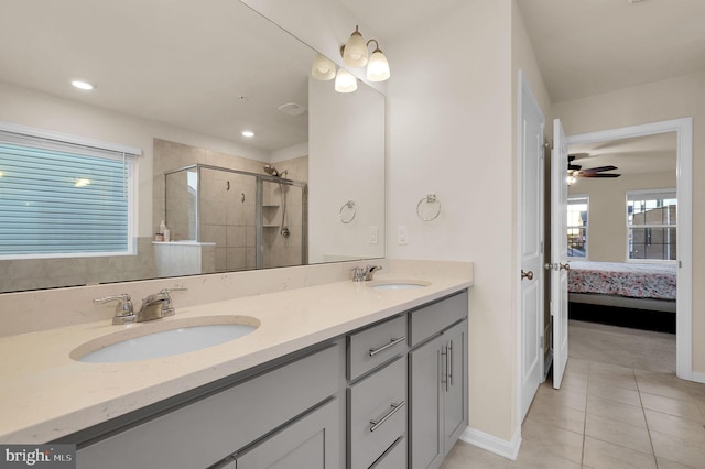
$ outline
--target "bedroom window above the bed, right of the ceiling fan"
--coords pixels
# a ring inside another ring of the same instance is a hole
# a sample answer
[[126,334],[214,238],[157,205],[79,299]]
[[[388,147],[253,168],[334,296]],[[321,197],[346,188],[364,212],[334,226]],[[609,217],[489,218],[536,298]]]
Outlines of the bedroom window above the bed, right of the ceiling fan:
[[627,193],[629,259],[676,259],[675,189]]

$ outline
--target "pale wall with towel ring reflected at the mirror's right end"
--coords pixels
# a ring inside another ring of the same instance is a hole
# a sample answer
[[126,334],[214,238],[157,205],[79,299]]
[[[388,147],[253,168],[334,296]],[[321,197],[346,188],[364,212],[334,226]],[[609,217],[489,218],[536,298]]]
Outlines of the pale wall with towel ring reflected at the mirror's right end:
[[[308,260],[383,258],[384,97],[365,84],[350,94],[333,86],[308,80]],[[343,222],[348,200],[355,210]]]

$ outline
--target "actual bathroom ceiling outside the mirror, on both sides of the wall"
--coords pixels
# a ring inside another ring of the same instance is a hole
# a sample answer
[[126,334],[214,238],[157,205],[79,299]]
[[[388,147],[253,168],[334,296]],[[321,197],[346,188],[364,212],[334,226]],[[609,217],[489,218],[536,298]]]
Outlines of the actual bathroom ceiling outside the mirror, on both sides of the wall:
[[[467,0],[340,0],[384,40]],[[704,0],[517,0],[552,102],[705,70]]]

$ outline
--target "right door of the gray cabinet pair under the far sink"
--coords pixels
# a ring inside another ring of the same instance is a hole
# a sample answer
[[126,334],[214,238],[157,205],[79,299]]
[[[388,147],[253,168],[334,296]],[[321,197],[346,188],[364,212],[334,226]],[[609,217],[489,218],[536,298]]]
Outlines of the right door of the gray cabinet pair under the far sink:
[[[444,407],[444,448],[447,454],[463,430],[467,427],[467,320],[443,332],[443,347],[446,355],[443,357],[446,363],[442,367],[447,370],[443,381],[443,407]],[[444,456],[445,456],[444,454]]]

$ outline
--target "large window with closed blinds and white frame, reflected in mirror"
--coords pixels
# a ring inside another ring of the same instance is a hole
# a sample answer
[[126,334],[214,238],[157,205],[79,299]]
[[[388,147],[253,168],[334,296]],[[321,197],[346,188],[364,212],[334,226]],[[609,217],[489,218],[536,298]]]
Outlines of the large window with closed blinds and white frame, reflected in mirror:
[[0,259],[133,254],[139,153],[0,123]]

